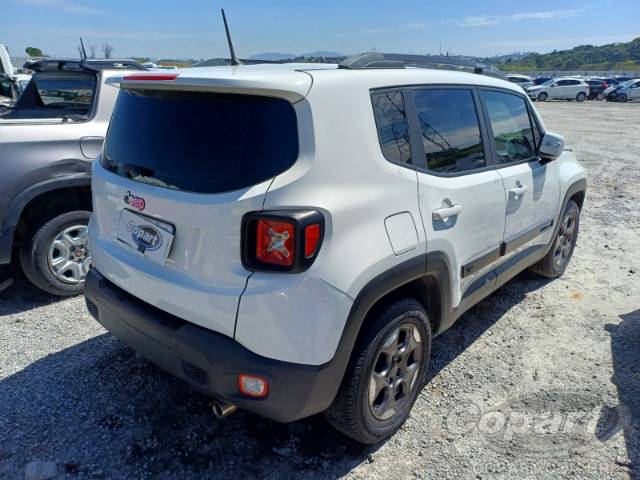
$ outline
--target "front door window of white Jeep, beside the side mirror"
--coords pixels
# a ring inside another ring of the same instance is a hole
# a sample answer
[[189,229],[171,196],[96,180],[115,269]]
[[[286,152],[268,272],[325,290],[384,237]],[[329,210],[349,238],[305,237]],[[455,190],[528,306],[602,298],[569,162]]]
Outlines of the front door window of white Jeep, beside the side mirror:
[[498,163],[528,160],[536,155],[536,139],[525,99],[510,93],[480,93],[489,114]]

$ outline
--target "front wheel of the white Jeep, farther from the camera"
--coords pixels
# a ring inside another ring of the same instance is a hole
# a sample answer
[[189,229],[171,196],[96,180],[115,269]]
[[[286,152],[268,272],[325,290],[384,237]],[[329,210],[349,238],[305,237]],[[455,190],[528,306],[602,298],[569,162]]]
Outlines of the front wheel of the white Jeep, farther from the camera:
[[580,230],[580,208],[569,200],[560,218],[560,225],[552,239],[547,255],[531,267],[531,271],[547,278],[557,278],[569,265]]

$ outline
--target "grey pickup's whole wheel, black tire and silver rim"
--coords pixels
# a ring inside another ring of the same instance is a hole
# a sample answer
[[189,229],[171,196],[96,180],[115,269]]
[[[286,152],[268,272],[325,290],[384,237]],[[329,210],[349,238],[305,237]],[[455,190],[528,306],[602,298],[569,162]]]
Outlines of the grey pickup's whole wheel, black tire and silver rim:
[[91,212],[77,210],[35,222],[20,249],[26,277],[39,289],[58,296],[82,293],[91,257],[86,229]]

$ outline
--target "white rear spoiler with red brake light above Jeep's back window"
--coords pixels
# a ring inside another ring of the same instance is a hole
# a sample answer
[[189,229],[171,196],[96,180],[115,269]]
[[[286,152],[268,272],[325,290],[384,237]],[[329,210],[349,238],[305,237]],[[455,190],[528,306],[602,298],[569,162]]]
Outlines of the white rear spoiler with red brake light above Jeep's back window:
[[105,83],[125,89],[191,90],[199,92],[237,93],[277,97],[296,103],[311,89],[311,76],[305,72],[286,70],[260,72],[251,67],[151,71],[111,75]]

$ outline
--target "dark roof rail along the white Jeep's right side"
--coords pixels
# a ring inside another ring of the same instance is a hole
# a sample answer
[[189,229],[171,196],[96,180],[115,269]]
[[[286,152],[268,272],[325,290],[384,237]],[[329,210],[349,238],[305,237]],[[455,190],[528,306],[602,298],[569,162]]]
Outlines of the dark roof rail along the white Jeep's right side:
[[467,71],[504,79],[506,75],[492,65],[480,63],[472,58],[444,55],[412,55],[405,53],[361,53],[349,57],[338,68],[351,70],[367,68],[434,68],[438,70]]

